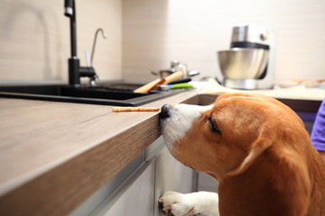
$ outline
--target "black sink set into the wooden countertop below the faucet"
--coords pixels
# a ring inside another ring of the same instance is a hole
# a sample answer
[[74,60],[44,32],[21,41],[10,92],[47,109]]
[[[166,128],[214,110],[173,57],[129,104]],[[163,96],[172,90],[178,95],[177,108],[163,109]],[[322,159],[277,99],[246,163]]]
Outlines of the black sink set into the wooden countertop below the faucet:
[[151,91],[148,94],[133,93],[139,85],[112,84],[107,86],[71,85],[14,85],[0,86],[0,97],[23,98],[43,101],[138,106],[180,93]]

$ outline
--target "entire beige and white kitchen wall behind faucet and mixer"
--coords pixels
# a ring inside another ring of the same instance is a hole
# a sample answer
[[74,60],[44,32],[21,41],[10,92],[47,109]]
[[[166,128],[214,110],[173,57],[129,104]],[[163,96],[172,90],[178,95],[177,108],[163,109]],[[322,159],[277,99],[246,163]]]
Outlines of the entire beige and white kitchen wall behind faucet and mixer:
[[[0,81],[67,80],[69,19],[60,0],[0,0]],[[237,23],[277,33],[275,79],[324,78],[323,0],[76,0],[78,56],[98,37],[94,67],[101,79],[144,83],[173,59],[221,77],[216,52],[228,49]]]

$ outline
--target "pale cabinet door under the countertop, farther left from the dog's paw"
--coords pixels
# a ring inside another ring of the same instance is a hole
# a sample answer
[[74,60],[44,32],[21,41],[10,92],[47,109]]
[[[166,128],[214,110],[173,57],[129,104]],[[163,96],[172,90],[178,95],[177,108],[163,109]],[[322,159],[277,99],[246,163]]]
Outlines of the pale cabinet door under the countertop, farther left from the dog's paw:
[[153,215],[154,161],[149,164],[139,168],[128,183],[122,185],[121,190],[114,194],[114,200],[101,207],[96,215]]

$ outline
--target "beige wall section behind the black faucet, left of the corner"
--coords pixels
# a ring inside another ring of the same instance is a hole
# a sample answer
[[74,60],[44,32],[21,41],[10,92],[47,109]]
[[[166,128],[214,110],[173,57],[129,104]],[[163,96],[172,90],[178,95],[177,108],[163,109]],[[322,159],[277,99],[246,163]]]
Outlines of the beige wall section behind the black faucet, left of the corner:
[[[76,0],[78,57],[98,37],[94,67],[102,79],[121,78],[122,1]],[[0,80],[68,79],[70,20],[63,14],[64,0],[0,0]]]

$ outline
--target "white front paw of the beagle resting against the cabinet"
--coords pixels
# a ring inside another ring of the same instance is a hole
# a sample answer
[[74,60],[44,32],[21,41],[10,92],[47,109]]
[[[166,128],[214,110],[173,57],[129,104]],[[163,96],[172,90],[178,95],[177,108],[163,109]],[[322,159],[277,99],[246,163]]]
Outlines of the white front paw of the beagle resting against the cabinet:
[[183,216],[199,214],[204,216],[218,216],[218,193],[197,192],[177,193],[166,192],[159,199],[163,204],[163,211],[167,215]]

